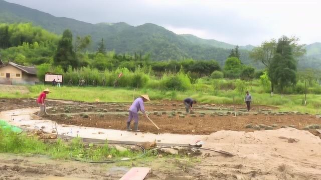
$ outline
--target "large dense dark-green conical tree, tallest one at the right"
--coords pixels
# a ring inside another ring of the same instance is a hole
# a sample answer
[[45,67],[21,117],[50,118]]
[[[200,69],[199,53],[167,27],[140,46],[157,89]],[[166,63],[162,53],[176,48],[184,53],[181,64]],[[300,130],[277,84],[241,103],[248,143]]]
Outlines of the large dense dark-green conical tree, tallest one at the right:
[[280,86],[281,93],[285,86],[296,83],[297,61],[293,56],[293,47],[290,43],[291,39],[286,36],[279,38],[271,68],[268,71],[273,76],[272,83]]

